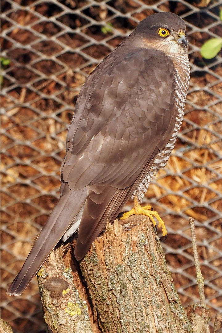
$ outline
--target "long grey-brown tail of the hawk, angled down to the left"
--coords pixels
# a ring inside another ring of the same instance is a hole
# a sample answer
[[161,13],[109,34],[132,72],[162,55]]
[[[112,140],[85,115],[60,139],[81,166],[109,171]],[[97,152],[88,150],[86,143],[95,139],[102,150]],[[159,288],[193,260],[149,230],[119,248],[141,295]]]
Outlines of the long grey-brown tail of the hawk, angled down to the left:
[[62,238],[70,224],[82,208],[87,197],[87,189],[72,191],[68,188],[62,195],[46,224],[40,232],[21,271],[7,290],[9,295],[21,295],[33,276]]

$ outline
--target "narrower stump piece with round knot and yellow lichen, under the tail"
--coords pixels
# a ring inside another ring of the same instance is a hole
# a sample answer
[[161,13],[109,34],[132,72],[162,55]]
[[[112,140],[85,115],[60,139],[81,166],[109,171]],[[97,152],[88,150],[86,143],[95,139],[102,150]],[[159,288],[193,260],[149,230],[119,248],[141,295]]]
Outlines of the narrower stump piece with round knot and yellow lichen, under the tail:
[[37,273],[48,331],[94,333],[86,301],[73,284],[71,268],[65,267],[61,250],[53,251]]

